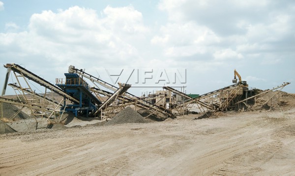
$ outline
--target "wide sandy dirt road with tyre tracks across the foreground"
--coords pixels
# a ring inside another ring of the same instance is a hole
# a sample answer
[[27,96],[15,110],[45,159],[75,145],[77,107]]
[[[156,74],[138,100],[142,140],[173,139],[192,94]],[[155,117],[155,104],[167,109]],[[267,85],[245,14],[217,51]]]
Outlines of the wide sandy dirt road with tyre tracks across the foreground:
[[295,110],[0,136],[0,175],[295,175]]

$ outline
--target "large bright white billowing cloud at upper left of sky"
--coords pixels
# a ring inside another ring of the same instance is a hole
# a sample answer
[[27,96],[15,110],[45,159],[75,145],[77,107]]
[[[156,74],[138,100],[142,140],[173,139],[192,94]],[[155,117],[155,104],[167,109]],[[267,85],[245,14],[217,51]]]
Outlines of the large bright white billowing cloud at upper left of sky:
[[[34,62],[31,59],[36,56],[56,65],[73,61],[83,64],[85,60],[93,63],[98,58],[105,65],[112,65],[111,59],[125,64],[138,58],[132,41],[148,32],[142,14],[132,6],[107,6],[102,13],[99,18],[95,10],[74,6],[57,13],[48,10],[33,14],[28,31],[0,34],[0,50],[13,48],[14,57],[19,53],[21,58],[30,56],[29,62]],[[6,27],[17,25],[9,23]]]

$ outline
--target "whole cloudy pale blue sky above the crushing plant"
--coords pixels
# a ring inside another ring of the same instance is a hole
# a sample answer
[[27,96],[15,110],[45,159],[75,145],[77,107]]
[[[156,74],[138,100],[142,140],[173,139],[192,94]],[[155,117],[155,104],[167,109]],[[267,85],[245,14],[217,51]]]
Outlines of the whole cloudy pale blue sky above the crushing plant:
[[7,63],[52,83],[73,65],[136,95],[204,94],[233,84],[235,69],[250,87],[291,82],[283,91],[295,93],[295,1],[0,0]]

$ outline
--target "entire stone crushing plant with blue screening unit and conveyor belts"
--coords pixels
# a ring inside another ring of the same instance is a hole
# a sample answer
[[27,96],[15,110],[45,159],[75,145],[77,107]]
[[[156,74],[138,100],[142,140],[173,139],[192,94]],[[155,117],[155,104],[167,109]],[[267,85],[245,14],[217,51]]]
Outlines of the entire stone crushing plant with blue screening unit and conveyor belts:
[[[170,98],[170,107],[168,109],[148,102],[149,100],[156,98],[163,99],[165,97],[163,95],[152,95],[140,98],[127,92],[131,87],[129,84],[118,83],[118,87],[116,87],[83,70],[76,69],[74,66],[69,67],[69,73],[65,73],[65,78],[56,79],[56,85],[17,64],[6,64],[4,67],[7,69],[7,72],[2,95],[5,94],[8,85],[13,88],[18,100],[0,97],[0,102],[21,106],[21,109],[26,107],[31,111],[31,114],[39,115],[41,117],[44,116],[48,119],[52,116],[54,116],[55,119],[57,116],[60,116],[61,118],[64,110],[73,111],[76,115],[78,112],[85,114],[86,116],[88,116],[88,114],[94,116],[102,116],[102,114],[114,115],[124,106],[131,105],[134,106],[135,110],[148,110],[150,112],[149,115],[155,112],[162,113],[165,116],[164,118],[175,118],[176,116],[172,113],[172,110],[184,113],[185,110],[191,110],[193,106],[197,106],[201,112],[212,111],[212,113],[215,113],[217,111],[221,112],[231,109],[240,103],[250,107],[246,103],[247,100],[269,91],[283,88],[290,84],[289,82],[284,83],[281,86],[267,90],[250,98],[248,98],[248,89],[245,81],[208,92],[195,98],[191,98],[172,87],[166,86],[163,87],[163,89],[168,90],[169,95],[173,92],[185,99],[182,102],[172,104]],[[7,84],[11,71],[13,71],[16,82],[13,84]],[[20,78],[23,78],[23,81],[21,81]],[[85,78],[89,79],[95,87],[90,87],[85,81]],[[36,93],[32,89],[29,80],[45,87],[45,93]],[[22,84],[25,84],[25,86]],[[108,91],[102,90],[100,88],[101,86],[108,89]],[[244,92],[246,92],[246,97],[244,96],[245,99],[239,101]],[[52,93],[52,96],[53,93],[56,93],[61,96],[63,100],[55,100],[54,97],[50,97],[49,93]],[[106,99],[102,100],[103,97]],[[2,108],[1,114],[3,114]]]

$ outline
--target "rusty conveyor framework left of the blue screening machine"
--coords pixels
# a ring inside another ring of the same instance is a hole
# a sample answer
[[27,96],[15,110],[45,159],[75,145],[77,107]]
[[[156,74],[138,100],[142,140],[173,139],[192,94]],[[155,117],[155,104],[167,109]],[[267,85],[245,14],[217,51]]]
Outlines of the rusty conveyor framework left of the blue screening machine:
[[[16,82],[13,84],[7,84],[13,88],[17,95],[18,100],[11,100],[1,98],[1,102],[9,103],[12,105],[21,106],[22,108],[27,107],[31,111],[31,114],[34,116],[41,116],[50,118],[52,115],[56,118],[56,115],[59,116],[59,108],[61,102],[54,100],[54,98],[50,98],[47,91],[51,91],[51,93],[56,92],[59,95],[66,95],[64,92],[59,90],[58,87],[54,86],[50,82],[44,80],[40,76],[26,70],[25,68],[17,65],[17,64],[6,64],[4,65],[7,68],[7,74],[5,77],[5,83],[8,82],[9,74],[11,70],[15,76]],[[23,81],[20,80],[23,78]],[[44,94],[35,93],[32,89],[29,80],[45,87]],[[25,86],[22,85],[25,83]],[[2,94],[5,94],[7,85],[4,85]],[[75,101],[71,98],[71,100]]]

